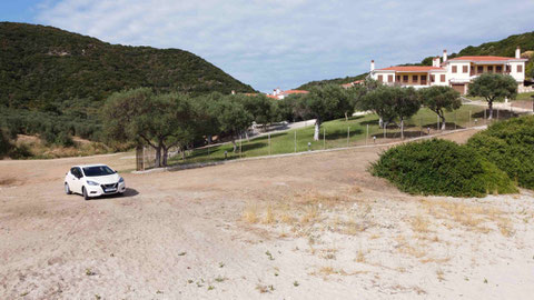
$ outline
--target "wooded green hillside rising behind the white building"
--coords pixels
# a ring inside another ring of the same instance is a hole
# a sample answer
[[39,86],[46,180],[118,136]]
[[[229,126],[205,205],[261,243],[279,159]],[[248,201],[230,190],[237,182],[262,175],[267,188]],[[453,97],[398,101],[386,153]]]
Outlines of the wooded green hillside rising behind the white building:
[[[458,53],[452,53],[448,58],[462,57],[462,56],[497,56],[497,57],[514,57],[517,46],[521,48],[521,52],[524,57],[530,58],[526,64],[525,74],[527,78],[534,78],[534,31],[522,34],[510,36],[506,39],[486,42],[481,46],[468,46],[462,49]],[[399,66],[432,66],[432,59],[434,57],[426,57],[419,63],[404,63]],[[348,83],[362,78],[365,78],[367,73],[363,73],[356,77],[346,77],[337,79],[327,79],[320,81],[312,81],[305,83],[297,89],[306,90],[313,86],[322,86],[326,83]]]

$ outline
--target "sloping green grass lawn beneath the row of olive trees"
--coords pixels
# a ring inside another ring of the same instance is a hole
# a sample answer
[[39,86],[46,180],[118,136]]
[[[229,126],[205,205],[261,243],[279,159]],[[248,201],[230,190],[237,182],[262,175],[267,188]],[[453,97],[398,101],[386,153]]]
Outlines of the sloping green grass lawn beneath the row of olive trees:
[[[478,106],[462,106],[454,112],[447,112],[445,118],[447,120],[447,129],[471,127],[481,124],[483,119],[484,108]],[[469,118],[471,113],[471,118]],[[471,120],[471,124],[469,124]],[[369,128],[369,136],[367,139],[367,126]],[[437,117],[433,111],[423,108],[417,114],[412,117],[405,126],[405,137],[419,137],[426,134],[427,128],[432,131],[436,130]],[[422,130],[423,129],[423,130]],[[424,133],[422,133],[424,131]],[[349,133],[349,140],[347,142],[347,133]],[[378,117],[376,114],[366,114],[359,117],[352,117],[346,121],[345,119],[338,119],[328,121],[320,127],[320,140],[314,141],[314,126],[310,124],[306,128],[288,130],[285,132],[273,133],[269,138],[267,136],[258,137],[247,141],[241,141],[241,152],[239,153],[239,141],[237,153],[233,152],[231,143],[218,144],[208,148],[195,149],[189,151],[186,160],[175,157],[169,160],[171,164],[176,163],[191,163],[191,162],[207,162],[219,161],[225,159],[225,151],[227,151],[227,159],[236,158],[251,158],[268,154],[281,154],[295,152],[295,137],[296,137],[296,151],[307,151],[308,142],[310,143],[310,150],[323,150],[332,148],[342,148],[347,146],[373,143],[373,137],[376,136],[377,142],[384,142],[384,130],[378,127]],[[323,139],[325,137],[325,139]],[[399,129],[396,126],[389,126],[387,129],[387,139],[400,138]]]

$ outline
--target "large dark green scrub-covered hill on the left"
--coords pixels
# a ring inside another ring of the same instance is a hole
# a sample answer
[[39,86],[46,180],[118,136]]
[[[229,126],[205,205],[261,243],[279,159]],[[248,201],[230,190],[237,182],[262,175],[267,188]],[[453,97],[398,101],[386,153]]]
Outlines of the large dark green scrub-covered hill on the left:
[[101,101],[110,93],[253,92],[206,60],[179,49],[110,44],[52,27],[0,22],[0,104],[41,109],[69,99]]

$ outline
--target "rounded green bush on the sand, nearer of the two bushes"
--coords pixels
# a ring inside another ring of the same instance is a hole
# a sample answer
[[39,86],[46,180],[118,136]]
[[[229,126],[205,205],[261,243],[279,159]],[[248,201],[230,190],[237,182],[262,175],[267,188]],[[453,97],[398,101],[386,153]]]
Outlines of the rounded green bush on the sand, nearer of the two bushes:
[[394,147],[370,172],[413,194],[484,197],[517,191],[505,172],[474,149],[437,139]]

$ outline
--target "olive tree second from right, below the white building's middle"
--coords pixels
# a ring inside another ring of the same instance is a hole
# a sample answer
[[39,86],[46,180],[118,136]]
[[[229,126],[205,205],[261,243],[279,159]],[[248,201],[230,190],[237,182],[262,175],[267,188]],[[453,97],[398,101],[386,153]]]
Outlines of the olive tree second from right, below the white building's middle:
[[459,92],[451,87],[433,86],[419,90],[422,104],[434,111],[442,121],[442,130],[446,128],[445,111],[453,111],[462,107]]

